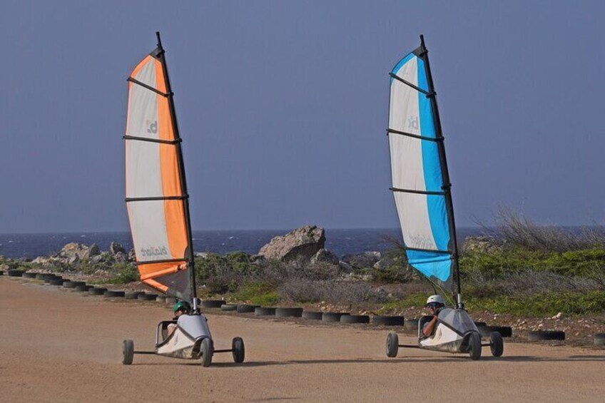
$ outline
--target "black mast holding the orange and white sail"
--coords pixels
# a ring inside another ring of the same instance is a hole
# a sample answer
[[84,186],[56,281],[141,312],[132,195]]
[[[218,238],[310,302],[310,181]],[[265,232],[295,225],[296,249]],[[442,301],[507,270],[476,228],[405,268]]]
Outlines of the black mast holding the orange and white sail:
[[190,285],[191,285],[191,295],[193,298],[193,308],[197,310],[197,287],[195,286],[195,262],[193,259],[193,236],[191,235],[191,220],[189,215],[189,193],[187,191],[187,180],[185,178],[185,163],[183,162],[183,150],[181,149],[181,135],[178,132],[178,123],[176,122],[176,110],[174,107],[174,93],[172,92],[172,87],[170,83],[170,78],[168,77],[168,66],[166,64],[166,57],[164,56],[164,49],[162,47],[162,40],[160,38],[160,32],[156,31],[156,36],[158,37],[158,55],[156,56],[160,63],[163,66],[163,75],[164,81],[166,81],[166,93],[168,93],[168,107],[171,113],[171,121],[173,127],[173,133],[176,140],[176,155],[178,159],[178,175],[181,179],[181,190],[185,198],[183,198],[183,210],[185,215],[185,229],[187,232],[187,241],[188,248],[185,251],[186,257],[188,260],[188,266],[190,269]]

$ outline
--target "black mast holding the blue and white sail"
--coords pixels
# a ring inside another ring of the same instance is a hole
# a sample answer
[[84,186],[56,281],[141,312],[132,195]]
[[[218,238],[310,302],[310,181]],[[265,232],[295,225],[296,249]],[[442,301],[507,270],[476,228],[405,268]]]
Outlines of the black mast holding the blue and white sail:
[[[439,118],[439,108],[437,108],[437,93],[434,91],[434,83],[431,74],[431,66],[429,64],[429,51],[424,46],[424,36],[420,35],[420,49],[421,54],[418,55],[424,61],[425,71],[427,73],[427,84],[429,87],[429,95],[432,109],[433,109],[433,122],[435,128],[435,137],[443,138],[441,129],[441,120]],[[458,240],[456,238],[456,224],[454,222],[454,205],[452,203],[452,183],[449,182],[449,171],[447,170],[447,158],[445,157],[445,146],[443,141],[437,142],[437,149],[439,151],[439,160],[441,162],[441,174],[443,178],[442,190],[445,195],[445,206],[447,211],[447,220],[449,222],[449,234],[450,240],[452,240],[452,258],[454,260],[454,269],[456,272],[456,283],[457,283],[457,295],[454,294],[454,300],[457,301],[458,307],[462,307],[462,290],[460,287],[460,270],[458,267]]]

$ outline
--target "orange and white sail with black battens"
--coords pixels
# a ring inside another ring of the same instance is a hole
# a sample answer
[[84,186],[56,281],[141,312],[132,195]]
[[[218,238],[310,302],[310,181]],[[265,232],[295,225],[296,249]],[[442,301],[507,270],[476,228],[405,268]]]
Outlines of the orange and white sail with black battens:
[[126,206],[141,280],[189,300],[195,287],[188,200],[171,97],[158,44],[128,78]]

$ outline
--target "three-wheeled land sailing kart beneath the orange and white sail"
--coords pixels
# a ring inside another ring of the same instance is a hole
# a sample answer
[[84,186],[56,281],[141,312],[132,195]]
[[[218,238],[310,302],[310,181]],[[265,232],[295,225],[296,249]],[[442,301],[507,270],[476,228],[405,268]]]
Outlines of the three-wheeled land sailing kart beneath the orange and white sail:
[[[168,335],[168,325],[176,325],[170,335]],[[243,362],[245,358],[244,341],[241,337],[234,337],[230,349],[215,350],[212,335],[208,329],[208,320],[203,314],[194,313],[193,315],[181,315],[178,320],[164,320],[158,323],[155,351],[135,351],[133,340],[124,340],[122,364],[132,364],[134,354],[156,354],[164,357],[201,359],[201,364],[209,367],[216,352],[231,352],[234,362]]]

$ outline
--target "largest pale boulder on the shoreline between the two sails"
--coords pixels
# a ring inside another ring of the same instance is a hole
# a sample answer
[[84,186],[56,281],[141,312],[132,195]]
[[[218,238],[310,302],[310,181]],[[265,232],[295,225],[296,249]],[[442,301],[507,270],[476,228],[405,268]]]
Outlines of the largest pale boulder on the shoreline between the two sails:
[[260,248],[258,255],[266,259],[310,260],[325,245],[325,231],[315,225],[305,225],[283,236],[273,238],[270,243]]

